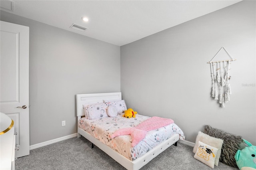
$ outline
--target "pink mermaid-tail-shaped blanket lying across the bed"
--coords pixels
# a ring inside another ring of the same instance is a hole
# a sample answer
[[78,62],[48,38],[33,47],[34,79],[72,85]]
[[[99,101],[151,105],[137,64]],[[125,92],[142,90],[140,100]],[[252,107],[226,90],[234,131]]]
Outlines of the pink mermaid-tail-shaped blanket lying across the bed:
[[158,129],[161,127],[165,127],[172,123],[174,123],[174,121],[172,119],[166,119],[166,118],[162,118],[162,117],[150,117],[146,121],[143,121],[136,127],[122,128],[122,129],[116,130],[112,134],[111,138],[114,138],[114,137],[120,136],[120,135],[130,134],[132,136],[132,147],[134,147],[141,140],[143,140],[145,138],[148,131]]

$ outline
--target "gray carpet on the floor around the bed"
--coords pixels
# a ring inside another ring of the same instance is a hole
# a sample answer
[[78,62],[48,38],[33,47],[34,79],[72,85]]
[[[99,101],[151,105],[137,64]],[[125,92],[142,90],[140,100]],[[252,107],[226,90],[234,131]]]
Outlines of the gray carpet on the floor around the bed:
[[[156,156],[140,170],[212,170],[194,158],[193,148],[178,143]],[[18,158],[16,170],[125,170],[97,146],[81,138],[70,138],[30,150],[30,155]],[[215,170],[238,170],[219,163]]]

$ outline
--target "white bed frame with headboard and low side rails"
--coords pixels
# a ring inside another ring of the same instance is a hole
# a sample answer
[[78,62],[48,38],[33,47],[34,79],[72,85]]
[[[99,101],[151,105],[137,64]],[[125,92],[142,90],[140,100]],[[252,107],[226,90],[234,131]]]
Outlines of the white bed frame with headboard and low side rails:
[[[82,116],[84,116],[84,109],[83,104],[84,103],[97,103],[98,100],[121,100],[121,92],[117,93],[92,93],[92,94],[78,94],[76,95],[76,115],[77,120],[79,123],[79,120]],[[170,147],[172,144],[176,143],[179,140],[180,135],[175,134],[172,137],[170,137],[168,140],[160,143],[155,148],[148,151],[146,154],[141,156],[140,158],[137,158],[134,161],[129,160],[128,158],[124,157],[120,153],[116,152],[109,146],[103,144],[100,142],[100,140],[94,138],[91,134],[83,130],[82,128],[78,127],[78,137],[81,135],[84,136],[86,139],[88,139],[92,144],[95,144],[98,148],[103,150],[106,154],[108,154],[110,157],[112,157],[116,162],[124,166],[124,168],[128,170],[139,170],[142,168],[142,166],[146,165],[150,160],[155,158],[158,154],[162,153],[164,150],[166,150],[168,147]],[[177,143],[176,143],[177,144]]]

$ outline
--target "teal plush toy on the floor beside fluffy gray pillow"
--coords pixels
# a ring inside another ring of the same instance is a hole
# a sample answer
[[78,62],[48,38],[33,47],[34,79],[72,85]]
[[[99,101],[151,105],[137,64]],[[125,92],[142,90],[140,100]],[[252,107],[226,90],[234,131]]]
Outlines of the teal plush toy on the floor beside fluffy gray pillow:
[[235,155],[236,164],[240,170],[256,170],[256,146],[244,140],[244,147]]

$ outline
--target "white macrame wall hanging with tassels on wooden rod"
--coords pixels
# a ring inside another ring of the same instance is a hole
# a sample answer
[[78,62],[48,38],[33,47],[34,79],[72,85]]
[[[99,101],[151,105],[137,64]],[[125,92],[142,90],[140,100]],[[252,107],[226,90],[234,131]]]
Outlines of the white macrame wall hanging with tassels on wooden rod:
[[[212,61],[220,52],[221,49],[224,49],[228,56],[231,59],[228,60],[222,60],[222,61]],[[233,59],[231,55],[228,53],[228,51],[221,47],[218,53],[214,55],[210,63],[211,68],[211,77],[212,77],[212,97],[214,97],[214,100],[219,100],[219,103],[221,107],[225,107],[226,102],[230,101],[230,94],[231,94],[231,88],[230,88],[230,65],[232,61],[235,61],[236,59]]]

